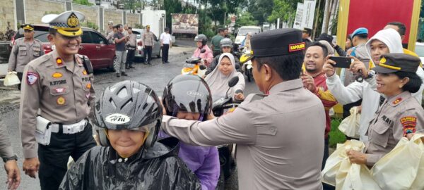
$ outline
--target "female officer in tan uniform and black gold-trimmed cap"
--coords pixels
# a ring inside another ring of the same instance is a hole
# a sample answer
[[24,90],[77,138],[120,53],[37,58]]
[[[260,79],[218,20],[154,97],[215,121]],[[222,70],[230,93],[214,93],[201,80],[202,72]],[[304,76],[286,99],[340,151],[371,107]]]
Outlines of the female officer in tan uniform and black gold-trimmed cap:
[[387,99],[370,122],[365,153],[348,151],[351,163],[372,167],[389,153],[402,137],[424,129],[424,109],[411,96],[423,83],[416,74],[420,62],[420,58],[415,56],[389,53],[383,55],[379,64],[372,68],[377,72],[377,91]]

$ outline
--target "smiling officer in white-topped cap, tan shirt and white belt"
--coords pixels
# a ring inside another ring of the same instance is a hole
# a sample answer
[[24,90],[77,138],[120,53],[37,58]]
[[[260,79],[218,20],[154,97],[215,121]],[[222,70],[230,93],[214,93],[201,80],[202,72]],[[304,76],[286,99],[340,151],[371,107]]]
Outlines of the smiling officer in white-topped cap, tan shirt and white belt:
[[95,146],[88,122],[95,101],[93,70],[86,57],[77,54],[84,18],[78,11],[45,15],[42,22],[49,23],[48,39],[56,49],[28,63],[23,73],[23,170],[34,178],[39,172],[41,189],[58,189],[69,156],[78,160]]

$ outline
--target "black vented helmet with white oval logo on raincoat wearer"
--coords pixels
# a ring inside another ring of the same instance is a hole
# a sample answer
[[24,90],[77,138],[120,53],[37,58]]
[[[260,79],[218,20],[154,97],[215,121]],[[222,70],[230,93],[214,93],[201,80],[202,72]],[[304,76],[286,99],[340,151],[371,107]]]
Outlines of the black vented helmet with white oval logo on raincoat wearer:
[[[104,129],[132,129],[146,132],[143,146],[153,146],[162,122],[162,106],[155,91],[146,84],[125,80],[107,87],[95,105],[94,124]],[[105,133],[100,144],[109,146]]]

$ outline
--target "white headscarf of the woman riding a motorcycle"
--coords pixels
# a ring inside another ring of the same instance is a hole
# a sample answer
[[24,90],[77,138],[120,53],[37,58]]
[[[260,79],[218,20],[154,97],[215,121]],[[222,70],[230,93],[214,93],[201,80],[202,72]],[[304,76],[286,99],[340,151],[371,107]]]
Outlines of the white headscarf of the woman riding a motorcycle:
[[[230,75],[227,76],[225,76],[218,69],[220,67],[220,62],[225,56],[230,58],[232,65],[232,72],[230,73]],[[212,97],[225,97],[225,92],[228,90],[228,81],[230,81],[230,79],[235,76],[239,77],[239,82],[234,87],[232,87],[230,91],[228,91],[229,97],[233,97],[237,89],[245,89],[245,78],[240,72],[237,72],[237,70],[235,70],[234,56],[232,56],[231,53],[222,53],[218,59],[218,66],[209,75],[206,75],[205,78],[206,83],[208,83],[209,88],[211,89]],[[216,99],[213,99],[213,101],[216,101]]]

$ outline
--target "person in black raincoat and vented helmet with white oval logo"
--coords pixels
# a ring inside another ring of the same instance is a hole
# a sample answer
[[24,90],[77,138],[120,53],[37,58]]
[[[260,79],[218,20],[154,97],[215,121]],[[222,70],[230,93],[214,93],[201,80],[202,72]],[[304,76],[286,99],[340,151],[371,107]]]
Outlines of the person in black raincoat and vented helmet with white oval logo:
[[84,153],[59,189],[200,189],[177,156],[178,140],[156,141],[161,120],[150,87],[129,80],[107,87],[95,105],[102,146]]

